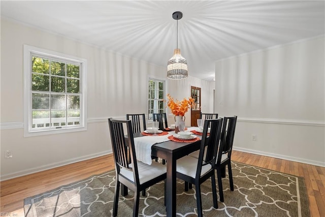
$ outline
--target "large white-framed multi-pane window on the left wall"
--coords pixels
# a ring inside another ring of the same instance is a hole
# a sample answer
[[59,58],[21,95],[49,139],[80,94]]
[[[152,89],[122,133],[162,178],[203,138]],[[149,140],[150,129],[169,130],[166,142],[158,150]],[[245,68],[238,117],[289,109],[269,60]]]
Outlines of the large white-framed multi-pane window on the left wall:
[[86,60],[24,46],[25,136],[86,130]]

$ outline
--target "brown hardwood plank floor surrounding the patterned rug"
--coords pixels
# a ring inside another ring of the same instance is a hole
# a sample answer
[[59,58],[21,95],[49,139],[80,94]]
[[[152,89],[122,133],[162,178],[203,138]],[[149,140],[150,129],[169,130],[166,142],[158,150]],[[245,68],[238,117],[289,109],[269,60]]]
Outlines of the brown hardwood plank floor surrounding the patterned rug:
[[[325,216],[324,167],[240,151],[233,151],[232,160],[304,177],[308,191],[311,216]],[[114,159],[113,155],[109,154],[107,156],[2,181],[0,182],[0,213],[11,212],[10,216],[24,216],[24,198],[112,169],[114,169]]]

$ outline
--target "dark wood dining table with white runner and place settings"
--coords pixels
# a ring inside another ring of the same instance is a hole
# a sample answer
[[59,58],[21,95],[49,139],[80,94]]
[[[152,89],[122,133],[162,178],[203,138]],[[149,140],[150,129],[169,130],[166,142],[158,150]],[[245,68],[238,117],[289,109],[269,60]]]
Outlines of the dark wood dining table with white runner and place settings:
[[[187,128],[187,131],[194,132],[197,127],[189,127]],[[166,134],[166,133],[165,133]],[[168,137],[174,136],[175,131],[168,132]],[[178,159],[192,153],[193,151],[200,149],[201,144],[201,135],[195,135],[197,138],[196,141],[193,140],[182,140],[182,141],[172,141],[170,139],[164,139],[160,136],[144,136],[144,133],[137,133],[134,134],[134,140],[135,140],[135,148],[136,148],[136,155],[137,160],[138,156],[141,156],[141,153],[139,153],[139,148],[137,148],[137,145],[141,146],[141,142],[143,140],[151,141],[152,139],[155,139],[155,142],[152,142],[151,144],[151,151],[149,153],[146,153],[147,157],[151,158],[158,157],[161,159],[166,160],[166,167],[167,167],[167,179],[166,179],[166,210],[167,210],[167,216],[176,216],[176,162]],[[147,137],[147,138],[144,138]],[[151,138],[148,138],[151,137]],[[167,138],[165,136],[165,138]],[[160,140],[159,140],[160,139]],[[175,139],[174,139],[175,140]],[[162,141],[162,142],[161,142]],[[139,144],[140,143],[140,144]],[[150,147],[148,146],[148,147]],[[143,153],[142,153],[143,154]],[[140,159],[141,160],[141,159]],[[150,164],[150,162],[144,163]],[[121,188],[121,195],[126,196],[127,195],[127,188],[122,186]]]

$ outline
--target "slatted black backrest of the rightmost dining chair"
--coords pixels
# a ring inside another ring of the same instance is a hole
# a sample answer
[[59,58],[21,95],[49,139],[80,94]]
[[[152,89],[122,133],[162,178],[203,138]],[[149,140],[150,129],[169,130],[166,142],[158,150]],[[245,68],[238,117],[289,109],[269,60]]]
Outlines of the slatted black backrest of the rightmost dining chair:
[[231,152],[234,144],[237,116],[224,117],[221,130],[220,150],[218,154],[217,164],[221,161],[222,154],[228,153],[228,158],[231,157]]

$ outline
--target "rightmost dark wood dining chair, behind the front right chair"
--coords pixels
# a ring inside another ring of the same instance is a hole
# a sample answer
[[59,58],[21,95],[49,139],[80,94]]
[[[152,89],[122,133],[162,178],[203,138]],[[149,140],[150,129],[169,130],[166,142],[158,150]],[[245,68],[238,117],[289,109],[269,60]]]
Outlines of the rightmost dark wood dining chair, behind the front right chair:
[[235,137],[237,116],[224,117],[221,130],[220,146],[217,155],[215,169],[217,170],[218,188],[220,201],[223,202],[222,176],[225,174],[225,167],[228,166],[230,190],[234,191],[233,172],[231,156]]

